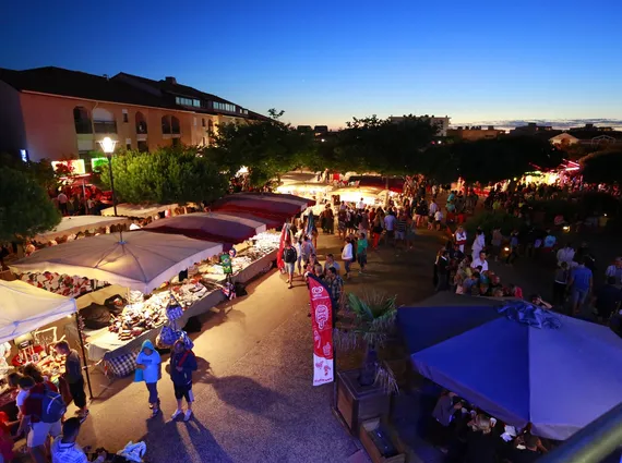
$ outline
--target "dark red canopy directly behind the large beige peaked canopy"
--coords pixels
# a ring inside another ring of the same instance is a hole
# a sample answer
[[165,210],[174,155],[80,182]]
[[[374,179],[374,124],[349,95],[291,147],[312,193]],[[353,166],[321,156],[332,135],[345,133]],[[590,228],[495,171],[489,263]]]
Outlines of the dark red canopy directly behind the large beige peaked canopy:
[[144,227],[143,230],[238,244],[265,232],[267,227],[265,222],[256,218],[239,217],[223,212],[200,212],[156,220]]

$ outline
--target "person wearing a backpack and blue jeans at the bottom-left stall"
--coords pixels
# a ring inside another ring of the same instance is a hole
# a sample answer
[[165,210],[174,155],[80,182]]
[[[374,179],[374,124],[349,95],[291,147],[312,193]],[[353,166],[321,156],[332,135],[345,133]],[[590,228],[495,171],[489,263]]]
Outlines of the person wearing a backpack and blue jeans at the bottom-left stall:
[[48,437],[56,438],[60,435],[60,422],[67,412],[67,405],[51,382],[36,383],[32,377],[24,376],[20,379],[20,388],[28,391],[20,429],[26,429],[29,425],[26,446],[36,463],[45,463]]

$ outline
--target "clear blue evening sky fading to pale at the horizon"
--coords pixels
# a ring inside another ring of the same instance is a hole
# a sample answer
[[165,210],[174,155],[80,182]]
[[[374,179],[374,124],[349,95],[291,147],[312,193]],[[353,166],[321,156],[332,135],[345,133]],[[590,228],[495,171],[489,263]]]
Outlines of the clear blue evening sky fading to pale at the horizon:
[[295,124],[622,117],[622,1],[5,1],[0,66],[124,71]]

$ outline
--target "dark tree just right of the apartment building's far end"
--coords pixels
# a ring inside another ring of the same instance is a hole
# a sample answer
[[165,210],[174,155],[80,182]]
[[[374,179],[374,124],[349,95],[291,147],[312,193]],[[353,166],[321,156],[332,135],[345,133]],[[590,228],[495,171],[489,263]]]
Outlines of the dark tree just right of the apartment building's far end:
[[214,134],[214,146],[204,156],[222,167],[229,178],[242,167],[249,169],[251,186],[264,186],[309,159],[315,149],[312,133],[298,132],[278,119],[284,111],[271,109],[270,121],[222,124]]

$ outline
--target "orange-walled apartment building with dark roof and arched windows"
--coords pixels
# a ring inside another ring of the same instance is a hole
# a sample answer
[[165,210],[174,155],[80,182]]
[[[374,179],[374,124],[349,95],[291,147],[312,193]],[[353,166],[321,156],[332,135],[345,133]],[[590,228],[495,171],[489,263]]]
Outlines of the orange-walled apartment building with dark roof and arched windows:
[[174,77],[108,77],[60,68],[0,69],[0,151],[31,160],[86,158],[106,136],[143,151],[208,146],[219,124],[265,119]]

